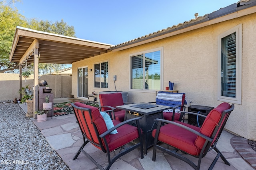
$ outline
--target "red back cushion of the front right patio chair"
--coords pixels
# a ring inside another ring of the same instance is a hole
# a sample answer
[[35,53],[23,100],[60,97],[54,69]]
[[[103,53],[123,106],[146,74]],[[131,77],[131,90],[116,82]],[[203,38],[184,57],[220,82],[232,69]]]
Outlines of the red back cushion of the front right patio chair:
[[[216,125],[219,123],[222,112],[226,109],[230,109],[230,104],[228,103],[222,103],[219,106],[217,106],[215,109],[212,109],[210,113],[207,115],[206,119],[204,120],[204,123],[200,129],[200,133],[211,137],[212,133],[216,127]],[[216,137],[214,137],[216,139]],[[195,145],[202,149],[206,139],[198,136],[195,141]]]

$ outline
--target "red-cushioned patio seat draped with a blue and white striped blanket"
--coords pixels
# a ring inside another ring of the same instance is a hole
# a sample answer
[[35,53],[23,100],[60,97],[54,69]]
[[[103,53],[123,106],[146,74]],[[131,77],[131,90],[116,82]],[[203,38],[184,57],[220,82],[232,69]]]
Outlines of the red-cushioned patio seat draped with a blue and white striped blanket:
[[[164,110],[163,116],[164,119],[174,121],[180,119],[179,111],[184,111],[186,108],[184,104],[186,104],[185,93],[172,93],[172,92],[164,92],[160,91],[156,94],[156,103],[158,105],[163,106],[171,106],[172,109]],[[182,117],[181,119],[184,120]],[[181,121],[181,120],[180,120]]]

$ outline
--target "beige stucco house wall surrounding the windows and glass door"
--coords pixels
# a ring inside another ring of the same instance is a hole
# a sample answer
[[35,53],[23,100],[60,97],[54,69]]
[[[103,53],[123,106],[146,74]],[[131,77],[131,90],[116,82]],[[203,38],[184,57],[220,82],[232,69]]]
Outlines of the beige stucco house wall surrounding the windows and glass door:
[[[155,91],[132,92],[129,89],[129,55],[164,47],[164,84],[174,82],[174,90],[186,93],[188,102],[216,107],[218,72],[218,35],[242,23],[242,105],[235,104],[226,129],[246,139],[256,140],[256,14],[224,21],[174,35],[122,51],[109,52],[72,64],[72,94],[77,96],[77,70],[109,60],[109,89],[93,88],[93,72],[88,72],[88,92],[115,90],[112,77],[117,75],[116,90],[128,92],[128,102],[153,102]],[[164,88],[162,89],[164,90]],[[188,103],[189,104],[189,103]]]

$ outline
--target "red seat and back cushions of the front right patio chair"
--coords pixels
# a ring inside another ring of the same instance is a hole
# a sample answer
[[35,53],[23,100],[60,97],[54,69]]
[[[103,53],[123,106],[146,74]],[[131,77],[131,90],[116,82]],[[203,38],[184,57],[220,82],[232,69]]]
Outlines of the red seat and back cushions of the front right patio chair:
[[[211,137],[214,131],[214,128],[218,124],[221,118],[221,114],[224,110],[229,109],[230,105],[228,103],[222,103],[207,115],[202,127],[196,127],[180,121],[174,121],[176,123],[183,124],[187,127],[190,127],[200,133]],[[152,136],[155,137],[156,129],[152,131]],[[177,149],[184,150],[188,154],[198,156],[202,147],[205,143],[205,139],[199,137],[198,135],[178,127],[176,125],[167,124],[160,128],[160,133],[158,137],[159,141],[162,141],[168,145],[171,145]]]

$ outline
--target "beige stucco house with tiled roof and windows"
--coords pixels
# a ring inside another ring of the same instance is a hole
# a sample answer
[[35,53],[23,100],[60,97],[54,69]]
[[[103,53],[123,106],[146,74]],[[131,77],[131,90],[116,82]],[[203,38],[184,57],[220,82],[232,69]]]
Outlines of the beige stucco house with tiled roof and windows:
[[225,128],[256,140],[255,23],[256,0],[243,0],[122,44],[94,42],[106,51],[72,62],[72,94],[122,91],[128,102],[153,102],[171,81],[188,105],[235,104]]

